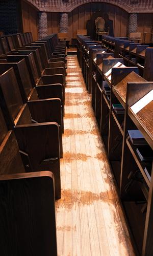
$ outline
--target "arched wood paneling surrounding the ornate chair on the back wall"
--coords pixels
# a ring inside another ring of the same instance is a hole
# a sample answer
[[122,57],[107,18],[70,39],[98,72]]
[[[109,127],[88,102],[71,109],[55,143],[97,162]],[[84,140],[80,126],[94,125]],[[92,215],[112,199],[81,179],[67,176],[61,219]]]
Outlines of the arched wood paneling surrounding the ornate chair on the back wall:
[[70,38],[76,38],[77,29],[86,29],[86,22],[96,11],[107,13],[113,20],[115,36],[126,36],[129,14],[123,9],[107,3],[88,3],[81,5],[69,13],[68,33]]

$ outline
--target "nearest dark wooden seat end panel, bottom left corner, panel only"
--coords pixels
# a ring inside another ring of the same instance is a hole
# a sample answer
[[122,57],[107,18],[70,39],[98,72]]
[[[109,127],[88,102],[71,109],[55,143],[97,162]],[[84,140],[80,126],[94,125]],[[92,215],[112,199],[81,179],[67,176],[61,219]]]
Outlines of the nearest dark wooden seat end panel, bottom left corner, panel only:
[[0,177],[1,254],[57,256],[54,176]]

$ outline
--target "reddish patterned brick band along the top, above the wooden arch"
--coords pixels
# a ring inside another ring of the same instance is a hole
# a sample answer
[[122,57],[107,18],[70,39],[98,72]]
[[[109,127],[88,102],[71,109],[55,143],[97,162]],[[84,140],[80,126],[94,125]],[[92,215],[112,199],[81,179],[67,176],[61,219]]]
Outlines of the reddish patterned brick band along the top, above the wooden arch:
[[40,11],[71,12],[76,7],[93,2],[103,2],[116,5],[126,12],[153,12],[153,0],[27,0]]

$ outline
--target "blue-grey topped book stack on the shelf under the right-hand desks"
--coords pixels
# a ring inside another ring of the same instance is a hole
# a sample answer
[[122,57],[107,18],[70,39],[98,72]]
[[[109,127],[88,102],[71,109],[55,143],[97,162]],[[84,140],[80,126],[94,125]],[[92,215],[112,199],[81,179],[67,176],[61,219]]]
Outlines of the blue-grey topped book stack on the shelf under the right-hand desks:
[[147,145],[147,142],[139,130],[128,130],[129,133],[128,139],[132,142],[133,145]]

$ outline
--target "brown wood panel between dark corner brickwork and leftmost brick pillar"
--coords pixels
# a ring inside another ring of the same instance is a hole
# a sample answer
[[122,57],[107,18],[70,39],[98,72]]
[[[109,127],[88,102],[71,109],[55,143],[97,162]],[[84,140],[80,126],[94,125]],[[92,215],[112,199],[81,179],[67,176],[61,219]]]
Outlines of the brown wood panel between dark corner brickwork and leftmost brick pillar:
[[21,1],[23,32],[32,32],[33,39],[38,39],[37,10]]

